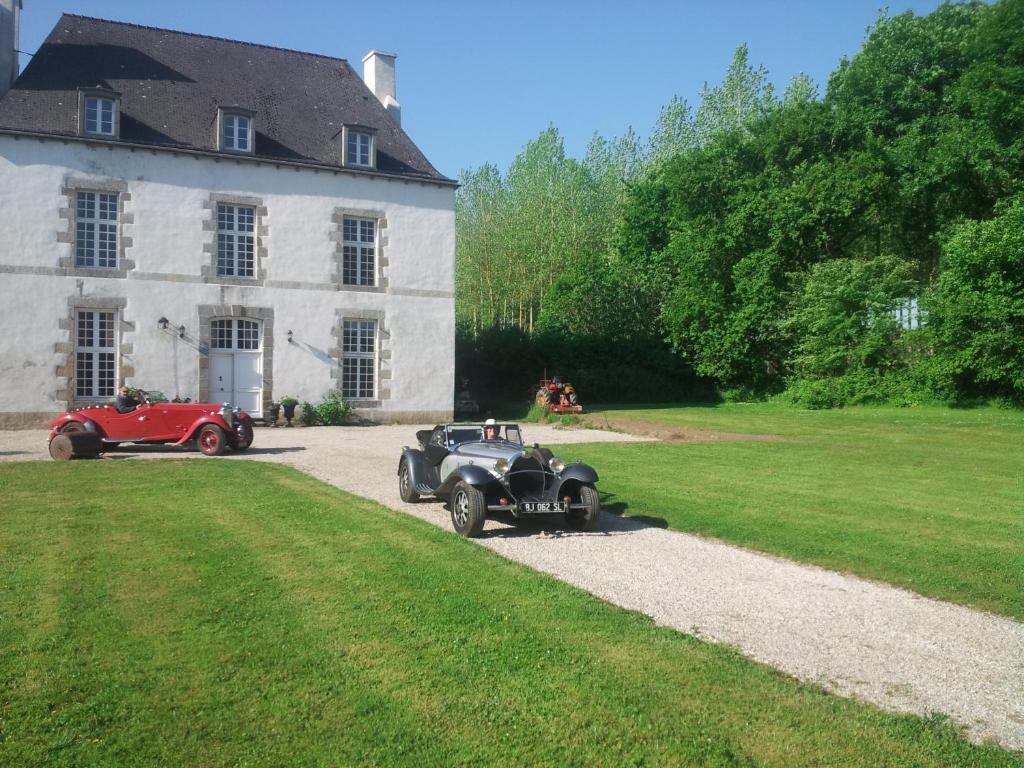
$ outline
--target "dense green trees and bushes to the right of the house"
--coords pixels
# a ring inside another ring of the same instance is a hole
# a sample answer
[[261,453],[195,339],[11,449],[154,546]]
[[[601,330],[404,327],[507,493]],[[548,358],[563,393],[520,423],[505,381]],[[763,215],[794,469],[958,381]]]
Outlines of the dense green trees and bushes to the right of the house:
[[[523,329],[512,356],[585,398],[1020,401],[1021,195],[1024,0],[883,14],[820,99],[805,75],[778,99],[740,46],[642,150],[577,162],[552,128],[467,172],[457,317]],[[907,298],[922,331],[886,319]]]

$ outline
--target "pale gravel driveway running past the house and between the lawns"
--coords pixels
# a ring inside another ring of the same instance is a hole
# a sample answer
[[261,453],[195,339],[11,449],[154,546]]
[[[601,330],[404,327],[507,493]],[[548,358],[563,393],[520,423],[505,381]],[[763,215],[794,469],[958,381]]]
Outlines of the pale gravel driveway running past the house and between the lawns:
[[[440,503],[398,499],[400,449],[415,442],[414,433],[422,428],[259,429],[253,449],[238,458],[289,464],[451,529]],[[645,439],[537,425],[523,431],[528,441],[541,443]],[[48,460],[45,439],[40,431],[0,432],[0,461]],[[103,460],[179,454],[162,446],[126,447]],[[1024,750],[1024,624],[629,518],[604,517],[599,534],[568,532],[553,521],[488,520],[479,541],[610,603],[733,645],[827,690],[897,712],[944,713],[975,740],[994,738]]]

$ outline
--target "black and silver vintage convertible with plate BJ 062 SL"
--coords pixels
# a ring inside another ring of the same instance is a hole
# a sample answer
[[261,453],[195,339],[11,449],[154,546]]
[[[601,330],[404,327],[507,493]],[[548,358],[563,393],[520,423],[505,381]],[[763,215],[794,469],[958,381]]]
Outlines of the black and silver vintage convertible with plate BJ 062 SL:
[[476,536],[488,512],[515,517],[561,514],[570,528],[596,530],[601,503],[597,472],[565,464],[540,445],[524,445],[516,424],[439,424],[416,433],[398,462],[403,502],[444,499],[462,536]]

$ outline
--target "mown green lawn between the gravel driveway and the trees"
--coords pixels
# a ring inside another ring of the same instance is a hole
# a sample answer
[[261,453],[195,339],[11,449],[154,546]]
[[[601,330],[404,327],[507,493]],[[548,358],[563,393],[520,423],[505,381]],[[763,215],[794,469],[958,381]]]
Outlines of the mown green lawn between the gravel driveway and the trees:
[[1024,618],[1024,413],[729,404],[591,412],[778,442],[565,446],[606,508]]

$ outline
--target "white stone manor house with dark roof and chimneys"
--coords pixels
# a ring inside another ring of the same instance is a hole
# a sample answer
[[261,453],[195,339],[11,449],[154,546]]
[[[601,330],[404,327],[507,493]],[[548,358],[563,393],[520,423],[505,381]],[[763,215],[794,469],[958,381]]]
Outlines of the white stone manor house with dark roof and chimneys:
[[19,10],[0,0],[0,425],[121,382],[451,417],[456,184],[400,128],[393,54],[364,82],[65,15],[18,76]]

